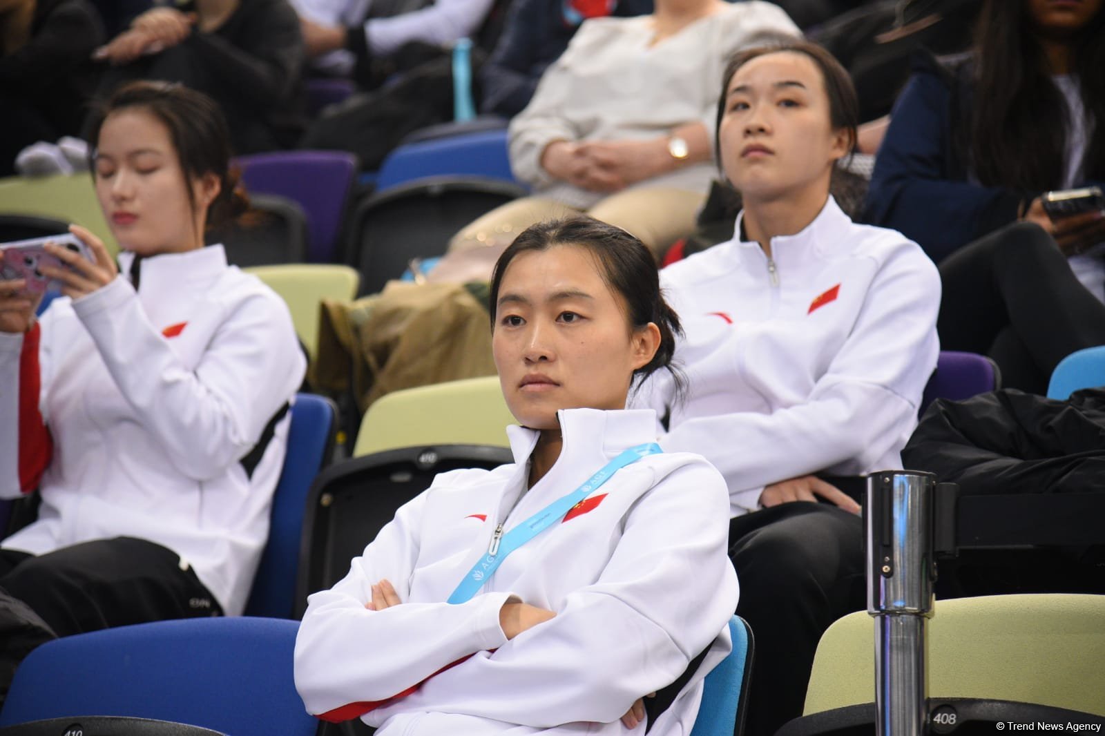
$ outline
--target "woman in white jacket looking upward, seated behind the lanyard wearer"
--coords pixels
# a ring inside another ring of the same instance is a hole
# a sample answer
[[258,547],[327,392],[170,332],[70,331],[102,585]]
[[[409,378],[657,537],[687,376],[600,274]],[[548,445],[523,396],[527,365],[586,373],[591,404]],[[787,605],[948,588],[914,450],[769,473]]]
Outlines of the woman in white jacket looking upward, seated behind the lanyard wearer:
[[685,400],[657,375],[634,406],[670,411],[661,446],[726,477],[737,612],[757,649],[747,728],[769,736],[801,715],[821,633],[864,606],[859,505],[824,475],[902,466],[940,282],[916,243],[854,224],[829,194],[856,106],[828,52],[749,50],[724,78],[719,160],[744,211],[732,241],[661,275],[686,330]]

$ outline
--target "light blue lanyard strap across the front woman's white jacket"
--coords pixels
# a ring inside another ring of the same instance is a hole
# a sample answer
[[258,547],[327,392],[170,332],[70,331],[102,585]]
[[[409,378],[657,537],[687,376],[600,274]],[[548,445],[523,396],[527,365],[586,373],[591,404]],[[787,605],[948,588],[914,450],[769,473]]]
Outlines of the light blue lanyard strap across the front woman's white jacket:
[[657,452],[663,452],[663,450],[661,450],[660,445],[655,442],[639,444],[635,448],[630,448],[599,469],[599,472],[592,475],[586,483],[583,483],[583,485],[579,486],[566,496],[557,498],[548,506],[511,529],[506,536],[502,536],[501,526],[495,530],[495,536],[492,537],[491,548],[487,550],[487,554],[481,557],[480,560],[472,566],[469,574],[465,575],[464,579],[461,580],[461,583],[456,586],[456,590],[454,590],[453,595],[449,597],[448,602],[463,603],[471,600],[480,588],[483,587],[483,583],[487,581],[487,578],[490,578],[495,570],[498,569],[498,566],[503,564],[503,560],[506,559],[511,553],[564,518],[565,514],[571,511],[572,506],[591,495],[591,492],[609,481],[610,477],[622,467],[635,463],[641,458],[654,455]]

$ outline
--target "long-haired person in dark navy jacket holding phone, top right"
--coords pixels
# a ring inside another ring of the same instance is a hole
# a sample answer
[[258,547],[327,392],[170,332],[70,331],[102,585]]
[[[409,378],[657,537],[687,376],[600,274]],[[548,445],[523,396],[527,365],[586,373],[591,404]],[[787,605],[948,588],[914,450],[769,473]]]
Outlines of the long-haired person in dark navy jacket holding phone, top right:
[[918,63],[867,191],[865,220],[940,265],[944,348],[988,354],[1004,386],[1036,393],[1105,343],[1105,213],[1042,201],[1105,181],[1102,6],[988,2],[971,54]]

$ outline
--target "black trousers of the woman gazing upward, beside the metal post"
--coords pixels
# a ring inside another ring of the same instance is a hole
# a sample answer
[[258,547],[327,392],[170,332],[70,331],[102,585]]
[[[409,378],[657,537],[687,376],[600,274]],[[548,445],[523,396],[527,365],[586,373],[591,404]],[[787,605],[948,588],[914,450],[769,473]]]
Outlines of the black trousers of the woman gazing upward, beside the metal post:
[[771,736],[802,715],[821,634],[865,606],[863,525],[832,504],[781,504],[729,523],[729,557],[755,641],[745,733]]

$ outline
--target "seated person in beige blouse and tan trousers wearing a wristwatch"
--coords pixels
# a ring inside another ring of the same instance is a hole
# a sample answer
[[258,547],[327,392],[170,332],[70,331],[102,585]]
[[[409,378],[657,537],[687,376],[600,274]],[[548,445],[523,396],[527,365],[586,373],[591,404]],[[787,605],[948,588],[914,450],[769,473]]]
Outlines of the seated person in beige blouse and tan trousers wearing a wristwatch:
[[659,259],[694,229],[716,176],[722,69],[762,33],[799,31],[759,1],[656,0],[651,15],[586,21],[511,123],[511,166],[534,196],[462,229],[450,250],[505,248],[535,222],[583,211]]

